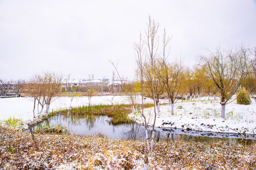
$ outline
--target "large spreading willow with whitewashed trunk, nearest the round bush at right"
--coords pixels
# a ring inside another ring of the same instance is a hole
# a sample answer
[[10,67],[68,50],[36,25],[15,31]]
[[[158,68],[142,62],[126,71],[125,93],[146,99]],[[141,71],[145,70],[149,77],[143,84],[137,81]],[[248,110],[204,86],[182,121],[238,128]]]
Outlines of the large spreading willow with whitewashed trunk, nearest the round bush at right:
[[[218,88],[221,104],[221,118],[225,118],[225,106],[237,92],[238,87],[249,74],[248,50],[243,46],[231,50],[217,48],[208,56],[201,56],[202,66]],[[232,101],[231,101],[232,102]]]

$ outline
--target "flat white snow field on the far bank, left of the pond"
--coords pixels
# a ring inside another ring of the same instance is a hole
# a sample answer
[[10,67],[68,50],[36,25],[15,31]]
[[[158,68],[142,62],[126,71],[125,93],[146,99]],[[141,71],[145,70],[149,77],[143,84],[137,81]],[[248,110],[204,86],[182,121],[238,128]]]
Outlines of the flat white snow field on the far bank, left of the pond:
[[[33,119],[33,101],[31,97],[0,98],[0,119],[9,119],[9,117],[23,120]],[[88,105],[88,97],[75,97],[72,102],[70,97],[59,97],[50,104],[50,111],[67,109],[70,103],[72,107]],[[93,96],[91,98],[91,104],[94,105],[112,103],[122,104],[129,103],[129,101],[126,96]],[[37,106],[35,113],[37,113]]]

